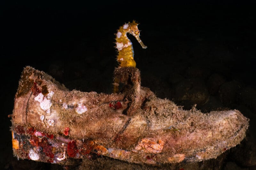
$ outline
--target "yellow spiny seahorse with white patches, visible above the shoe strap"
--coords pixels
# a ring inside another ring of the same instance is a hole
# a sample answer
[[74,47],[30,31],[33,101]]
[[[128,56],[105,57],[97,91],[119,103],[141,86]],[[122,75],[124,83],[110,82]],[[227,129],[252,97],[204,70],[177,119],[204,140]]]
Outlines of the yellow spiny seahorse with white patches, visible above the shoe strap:
[[147,46],[145,46],[140,40],[140,30],[138,29],[138,25],[138,23],[132,21],[120,26],[117,30],[116,48],[118,51],[117,61],[120,63],[119,67],[136,67],[136,63],[133,60],[132,42],[127,37],[127,33],[132,34],[140,43],[142,48],[147,48]]

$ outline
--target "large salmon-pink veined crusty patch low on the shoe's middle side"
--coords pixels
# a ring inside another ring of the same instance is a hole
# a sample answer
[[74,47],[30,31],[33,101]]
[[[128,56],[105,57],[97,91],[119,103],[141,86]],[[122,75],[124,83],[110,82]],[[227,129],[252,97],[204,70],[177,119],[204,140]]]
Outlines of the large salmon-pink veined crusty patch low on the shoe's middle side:
[[147,138],[143,138],[134,149],[135,151],[142,150],[143,152],[146,152],[146,153],[161,153],[163,148],[164,148],[164,141],[159,139],[156,143]]

